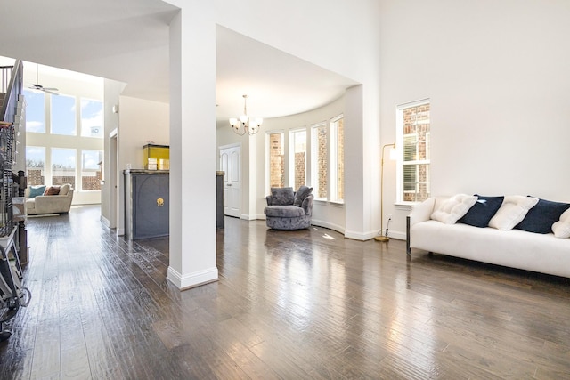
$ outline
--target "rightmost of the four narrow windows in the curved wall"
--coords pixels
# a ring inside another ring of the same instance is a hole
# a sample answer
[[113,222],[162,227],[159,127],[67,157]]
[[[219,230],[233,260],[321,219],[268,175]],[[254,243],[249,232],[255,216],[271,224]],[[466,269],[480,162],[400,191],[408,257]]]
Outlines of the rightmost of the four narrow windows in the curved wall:
[[332,137],[330,200],[342,202],[345,199],[345,127],[344,117],[338,116],[330,121]]

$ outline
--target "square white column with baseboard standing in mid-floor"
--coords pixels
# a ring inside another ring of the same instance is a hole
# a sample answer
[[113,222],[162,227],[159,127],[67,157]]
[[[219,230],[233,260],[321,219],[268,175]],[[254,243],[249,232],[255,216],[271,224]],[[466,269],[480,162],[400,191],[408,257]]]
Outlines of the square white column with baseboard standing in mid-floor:
[[216,24],[185,6],[170,25],[170,263],[181,289],[217,280]]

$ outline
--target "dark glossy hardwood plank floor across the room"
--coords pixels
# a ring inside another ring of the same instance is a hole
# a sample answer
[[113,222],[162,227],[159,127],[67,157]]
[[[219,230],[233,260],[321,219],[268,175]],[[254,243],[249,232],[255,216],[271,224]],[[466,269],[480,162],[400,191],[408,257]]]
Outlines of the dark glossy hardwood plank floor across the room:
[[167,239],[99,218],[28,219],[1,379],[570,378],[568,279],[227,218],[219,281],[180,292]]

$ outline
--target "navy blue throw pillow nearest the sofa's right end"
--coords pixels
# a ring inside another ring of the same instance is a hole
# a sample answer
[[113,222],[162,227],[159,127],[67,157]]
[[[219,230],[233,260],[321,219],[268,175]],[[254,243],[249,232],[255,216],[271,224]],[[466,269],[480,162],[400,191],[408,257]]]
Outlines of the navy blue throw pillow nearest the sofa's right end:
[[552,232],[552,224],[558,222],[560,215],[569,207],[570,204],[568,203],[552,202],[539,198],[536,206],[528,210],[525,219],[518,223],[515,228],[534,233],[550,233]]

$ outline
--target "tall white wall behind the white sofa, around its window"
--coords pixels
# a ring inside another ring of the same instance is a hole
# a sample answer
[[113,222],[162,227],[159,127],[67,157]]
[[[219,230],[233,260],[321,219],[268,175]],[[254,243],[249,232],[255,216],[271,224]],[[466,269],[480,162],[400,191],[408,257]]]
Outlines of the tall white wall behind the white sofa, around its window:
[[[430,98],[433,195],[570,201],[569,18],[566,0],[382,1],[382,140],[397,104]],[[392,170],[385,214],[403,237]]]

